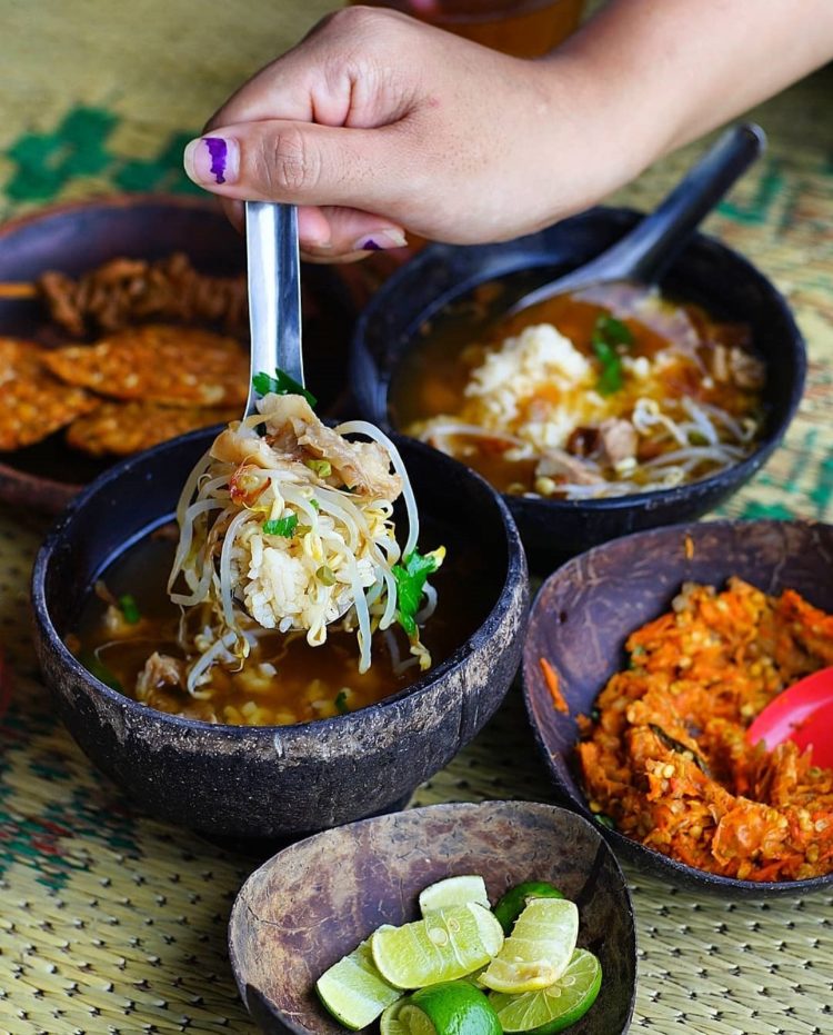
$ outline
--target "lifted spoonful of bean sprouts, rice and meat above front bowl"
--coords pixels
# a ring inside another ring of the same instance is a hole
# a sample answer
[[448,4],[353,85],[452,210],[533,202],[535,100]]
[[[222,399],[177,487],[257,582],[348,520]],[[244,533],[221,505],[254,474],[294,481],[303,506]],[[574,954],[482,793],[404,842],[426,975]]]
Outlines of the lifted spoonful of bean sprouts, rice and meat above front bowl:
[[[443,551],[416,554],[416,502],[395,446],[365,421],[327,428],[300,396],[270,394],[259,409],[220,434],[177,508],[169,594],[184,608],[188,691],[199,695],[213,666],[240,668],[259,629],[305,635],[311,646],[325,641],[329,626],[354,630],[364,673],[374,630],[399,619],[412,657],[397,668],[429,667],[420,626],[436,593],[425,578]],[[400,495],[404,549],[393,523]]]

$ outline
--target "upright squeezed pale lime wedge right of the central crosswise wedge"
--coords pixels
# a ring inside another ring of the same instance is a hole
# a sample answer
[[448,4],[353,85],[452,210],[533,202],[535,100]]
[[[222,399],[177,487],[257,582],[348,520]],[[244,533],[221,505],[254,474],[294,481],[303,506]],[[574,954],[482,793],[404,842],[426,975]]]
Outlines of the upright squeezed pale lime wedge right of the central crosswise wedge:
[[566,898],[533,898],[480,981],[494,992],[513,995],[545,988],[561,977],[578,936],[575,903]]

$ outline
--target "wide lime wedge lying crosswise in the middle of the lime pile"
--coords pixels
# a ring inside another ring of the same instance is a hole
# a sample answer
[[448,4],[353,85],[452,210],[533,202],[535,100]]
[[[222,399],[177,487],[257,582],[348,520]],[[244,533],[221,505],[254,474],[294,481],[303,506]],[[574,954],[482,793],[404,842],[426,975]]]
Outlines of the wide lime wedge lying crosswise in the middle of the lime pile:
[[403,927],[381,927],[370,939],[379,973],[398,988],[464,977],[489,963],[502,944],[501,925],[475,902],[432,910]]

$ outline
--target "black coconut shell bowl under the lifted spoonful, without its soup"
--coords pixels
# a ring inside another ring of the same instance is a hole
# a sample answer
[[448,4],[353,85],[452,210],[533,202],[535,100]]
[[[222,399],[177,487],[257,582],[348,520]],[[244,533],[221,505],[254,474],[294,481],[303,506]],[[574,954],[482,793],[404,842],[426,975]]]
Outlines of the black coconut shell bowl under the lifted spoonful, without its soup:
[[[172,550],[165,526],[214,434],[172,439],[108,470],[73,500],[41,548],[36,643],[58,711],[91,760],[148,813],[205,834],[282,838],[394,807],[481,729],[515,674],[528,577],[514,523],[462,465],[400,440],[420,511],[420,548],[430,540],[448,549],[448,577],[438,573],[439,604],[424,631],[431,646],[426,630],[436,619],[442,645],[433,667],[412,669],[413,681],[374,704],[314,721],[227,725],[168,714],[106,685],[67,640],[79,630],[83,638],[84,614],[97,601],[92,587],[102,577],[113,591],[129,590],[139,608],[151,606],[153,593],[163,596],[170,555],[163,560],[153,550]],[[309,654],[315,658],[327,646]],[[147,657],[154,647],[144,649]]]

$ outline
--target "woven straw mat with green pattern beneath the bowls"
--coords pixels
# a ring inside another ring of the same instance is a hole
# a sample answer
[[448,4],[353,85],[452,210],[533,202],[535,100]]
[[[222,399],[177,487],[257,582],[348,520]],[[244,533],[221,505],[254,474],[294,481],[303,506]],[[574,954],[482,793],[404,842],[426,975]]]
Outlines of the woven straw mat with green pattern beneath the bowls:
[[[325,9],[0,0],[0,217],[102,191],[190,190],[182,142]],[[833,516],[832,86],[827,70],[756,112],[770,153],[707,227],[773,277],[810,345],[801,412],[725,508],[732,516]],[[616,200],[650,207],[691,155]],[[54,719],[27,606],[46,527],[0,515],[0,639],[16,670],[0,721],[0,1033],[252,1032],[225,924],[255,860],[142,816]],[[512,797],[552,798],[516,689],[414,804]],[[734,905],[628,875],[640,937],[634,1031],[833,1031],[833,896]]]

